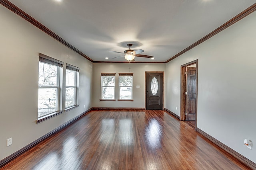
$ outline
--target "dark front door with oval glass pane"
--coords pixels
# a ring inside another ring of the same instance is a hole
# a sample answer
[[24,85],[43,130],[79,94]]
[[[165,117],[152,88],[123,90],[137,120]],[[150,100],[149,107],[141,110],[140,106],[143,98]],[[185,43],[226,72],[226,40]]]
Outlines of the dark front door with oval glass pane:
[[146,109],[163,109],[163,72],[146,73]]

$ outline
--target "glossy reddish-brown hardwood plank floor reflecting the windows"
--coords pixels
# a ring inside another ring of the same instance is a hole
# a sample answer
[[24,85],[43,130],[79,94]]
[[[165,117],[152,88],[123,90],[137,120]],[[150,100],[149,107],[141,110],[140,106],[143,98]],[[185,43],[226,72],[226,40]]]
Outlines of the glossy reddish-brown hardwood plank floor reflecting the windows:
[[162,110],[93,110],[2,169],[248,169]]

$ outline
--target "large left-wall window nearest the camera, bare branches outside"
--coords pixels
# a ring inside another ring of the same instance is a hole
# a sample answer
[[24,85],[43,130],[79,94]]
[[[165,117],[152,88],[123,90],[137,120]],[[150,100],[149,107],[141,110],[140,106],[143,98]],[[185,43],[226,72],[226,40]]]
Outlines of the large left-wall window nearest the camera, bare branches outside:
[[38,118],[59,111],[62,65],[61,61],[39,53]]

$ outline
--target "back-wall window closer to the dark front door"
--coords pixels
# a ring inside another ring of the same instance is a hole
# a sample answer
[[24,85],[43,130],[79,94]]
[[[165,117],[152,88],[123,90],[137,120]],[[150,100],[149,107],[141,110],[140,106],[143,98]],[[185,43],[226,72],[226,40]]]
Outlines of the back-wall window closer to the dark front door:
[[119,73],[119,99],[132,100],[133,73]]

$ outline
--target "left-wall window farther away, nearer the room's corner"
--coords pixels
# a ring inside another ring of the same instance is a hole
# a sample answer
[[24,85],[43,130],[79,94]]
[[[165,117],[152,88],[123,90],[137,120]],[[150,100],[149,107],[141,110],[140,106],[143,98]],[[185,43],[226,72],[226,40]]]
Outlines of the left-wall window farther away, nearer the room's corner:
[[66,64],[66,102],[65,107],[71,107],[77,105],[77,80],[79,68]]

